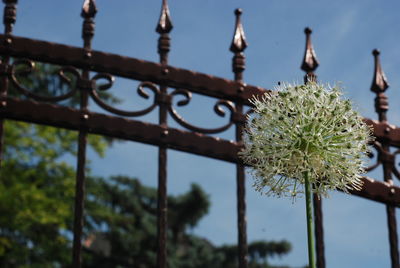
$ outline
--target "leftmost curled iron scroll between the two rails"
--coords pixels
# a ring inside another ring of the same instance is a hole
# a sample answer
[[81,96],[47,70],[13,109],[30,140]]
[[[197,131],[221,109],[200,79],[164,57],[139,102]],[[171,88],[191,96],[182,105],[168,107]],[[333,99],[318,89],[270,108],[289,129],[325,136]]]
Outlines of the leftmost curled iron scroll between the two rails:
[[10,69],[10,78],[12,81],[12,84],[15,86],[15,88],[25,95],[28,98],[32,98],[36,101],[45,101],[45,102],[59,102],[62,100],[66,100],[68,98],[71,98],[77,91],[77,87],[73,85],[73,81],[71,78],[67,76],[67,74],[71,74],[76,79],[79,79],[80,73],[77,69],[71,66],[66,66],[62,67],[57,71],[57,75],[60,77],[60,79],[69,85],[71,88],[70,91],[68,91],[65,94],[59,95],[59,96],[42,96],[38,95],[36,93],[33,93],[31,90],[26,89],[21,85],[21,83],[18,81],[17,76],[27,76],[31,73],[33,73],[35,69],[35,63],[31,60],[17,60],[11,65]]

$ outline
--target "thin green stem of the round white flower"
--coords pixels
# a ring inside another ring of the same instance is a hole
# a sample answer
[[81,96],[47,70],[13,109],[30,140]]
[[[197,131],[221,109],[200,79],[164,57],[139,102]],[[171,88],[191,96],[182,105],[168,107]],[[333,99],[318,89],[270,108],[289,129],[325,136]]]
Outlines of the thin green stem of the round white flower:
[[304,172],[303,174],[304,174],[304,187],[306,190],[308,262],[310,268],[316,268],[315,254],[314,254],[314,221],[312,216],[311,183],[309,181],[309,173]]

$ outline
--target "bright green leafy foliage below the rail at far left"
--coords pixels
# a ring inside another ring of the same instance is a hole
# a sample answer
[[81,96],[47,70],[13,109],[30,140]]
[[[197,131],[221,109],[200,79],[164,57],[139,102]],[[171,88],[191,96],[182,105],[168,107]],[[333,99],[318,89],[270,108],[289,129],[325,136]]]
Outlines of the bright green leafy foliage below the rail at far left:
[[[68,263],[77,134],[6,121],[0,169],[0,266],[53,267]],[[89,136],[104,154],[107,141]]]

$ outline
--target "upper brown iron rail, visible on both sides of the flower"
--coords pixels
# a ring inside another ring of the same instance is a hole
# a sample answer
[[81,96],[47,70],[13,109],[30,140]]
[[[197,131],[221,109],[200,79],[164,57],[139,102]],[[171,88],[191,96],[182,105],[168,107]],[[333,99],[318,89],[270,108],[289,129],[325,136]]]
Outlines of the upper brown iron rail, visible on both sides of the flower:
[[[7,53],[7,46],[4,45],[4,35],[0,35],[0,53]],[[146,62],[128,57],[122,57],[115,54],[92,51],[92,57],[85,61],[82,54],[85,52],[82,48],[74,48],[65,45],[59,45],[44,41],[35,41],[27,38],[12,37],[12,44],[9,52],[13,56],[28,57],[32,60],[44,61],[54,64],[75,65],[76,67],[92,67],[98,72],[106,72],[121,77],[138,79],[141,81],[153,81],[154,83],[165,82],[169,87],[186,88],[199,94],[209,96],[221,96],[224,92],[229,92],[225,99],[242,99],[248,104],[248,97],[253,95],[262,95],[269,90],[250,85],[241,85],[241,83],[217,78],[201,73],[191,72],[169,66],[170,74],[174,76],[167,78],[160,74],[163,68],[160,64]],[[46,52],[48,52],[46,54]],[[54,58],[53,58],[54,57]],[[103,62],[104,61],[104,62]],[[121,61],[121,62],[120,62]],[[136,73],[138,72],[138,73]],[[152,75],[154,73],[154,75]],[[174,77],[181,77],[177,81],[171,81]],[[199,76],[199,77],[197,77]],[[164,79],[165,77],[165,79]],[[196,77],[195,79],[192,79]],[[210,86],[210,90],[206,90]],[[240,88],[242,88],[243,93]],[[241,97],[242,96],[242,97]],[[400,129],[387,122],[378,122],[366,118],[368,125],[373,126],[374,135],[377,139],[389,139],[391,146],[400,147]]]

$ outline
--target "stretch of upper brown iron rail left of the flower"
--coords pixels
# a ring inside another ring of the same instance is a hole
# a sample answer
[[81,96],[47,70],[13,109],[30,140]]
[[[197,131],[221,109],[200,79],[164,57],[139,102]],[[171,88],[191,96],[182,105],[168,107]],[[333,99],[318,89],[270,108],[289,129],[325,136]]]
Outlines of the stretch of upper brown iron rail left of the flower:
[[239,100],[246,104],[250,104],[249,99],[252,96],[262,95],[268,91],[212,75],[111,53],[93,50],[88,58],[87,51],[83,48],[16,36],[0,35],[0,54],[88,68],[91,71],[150,81],[173,88],[184,88],[210,97]]

